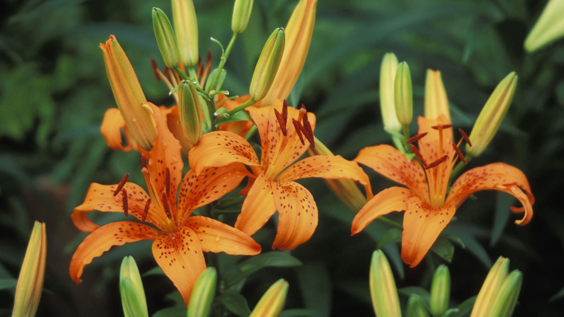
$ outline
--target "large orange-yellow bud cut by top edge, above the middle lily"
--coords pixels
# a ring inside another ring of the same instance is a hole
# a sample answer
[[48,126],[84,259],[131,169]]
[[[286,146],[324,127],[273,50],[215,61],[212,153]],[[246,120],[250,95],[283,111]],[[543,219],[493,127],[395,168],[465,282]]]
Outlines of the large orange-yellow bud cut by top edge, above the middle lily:
[[286,49],[282,55],[279,72],[268,90],[262,105],[271,105],[274,99],[287,99],[306,63],[314,33],[315,11],[318,0],[300,0],[286,25]]

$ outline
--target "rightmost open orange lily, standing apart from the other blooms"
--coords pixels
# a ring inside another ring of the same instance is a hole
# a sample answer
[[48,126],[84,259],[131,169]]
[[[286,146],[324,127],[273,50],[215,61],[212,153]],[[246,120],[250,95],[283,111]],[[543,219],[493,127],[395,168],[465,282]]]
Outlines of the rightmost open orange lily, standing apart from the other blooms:
[[352,234],[360,232],[381,215],[405,210],[402,259],[414,267],[451,221],[456,209],[474,192],[498,190],[509,193],[523,205],[523,208],[512,207],[512,211],[525,213],[523,219],[515,223],[527,224],[531,220],[535,199],[527,178],[521,170],[504,163],[466,171],[453,183],[447,195],[448,180],[457,158],[465,162],[460,143],[462,140],[469,142],[469,139],[460,129],[462,138],[457,144],[453,143],[452,125],[443,114],[437,119],[419,117],[418,124],[418,134],[407,141],[418,141],[419,147],[412,145],[412,149],[422,165],[415,158],[408,161],[403,153],[389,145],[366,147],[354,159],[407,188],[390,187],[369,200],[356,214]]

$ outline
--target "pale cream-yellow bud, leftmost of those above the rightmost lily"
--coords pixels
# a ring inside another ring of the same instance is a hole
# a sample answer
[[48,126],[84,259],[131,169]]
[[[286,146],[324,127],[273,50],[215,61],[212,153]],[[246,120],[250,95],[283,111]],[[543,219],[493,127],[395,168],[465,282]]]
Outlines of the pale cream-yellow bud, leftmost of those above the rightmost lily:
[[386,53],[380,66],[380,111],[386,129],[400,131],[402,124],[395,114],[394,83],[398,70],[398,58],[394,53]]

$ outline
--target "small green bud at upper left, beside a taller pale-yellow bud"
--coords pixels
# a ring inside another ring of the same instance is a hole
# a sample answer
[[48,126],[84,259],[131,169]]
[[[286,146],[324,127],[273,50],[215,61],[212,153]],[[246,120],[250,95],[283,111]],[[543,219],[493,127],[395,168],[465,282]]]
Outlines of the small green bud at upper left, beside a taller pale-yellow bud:
[[165,61],[166,67],[177,68],[180,65],[178,42],[169,17],[160,8],[153,7],[152,12],[153,30],[155,30],[155,38],[157,39],[158,50],[161,51],[162,60]]

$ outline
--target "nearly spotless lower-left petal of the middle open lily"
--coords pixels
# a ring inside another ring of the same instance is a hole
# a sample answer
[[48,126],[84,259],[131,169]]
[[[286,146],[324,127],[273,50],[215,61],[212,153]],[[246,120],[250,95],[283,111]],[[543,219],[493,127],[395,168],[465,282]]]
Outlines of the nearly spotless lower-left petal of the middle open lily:
[[253,235],[276,212],[272,182],[265,175],[260,174],[255,179],[248,195],[243,202],[241,213],[235,222],[235,228]]

